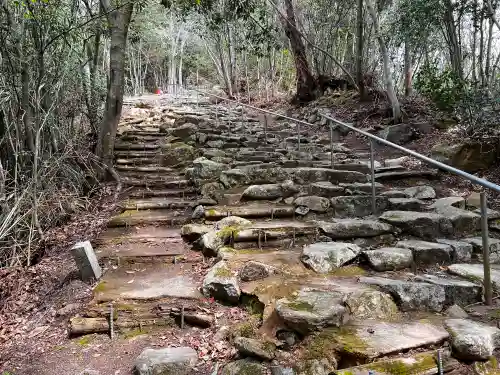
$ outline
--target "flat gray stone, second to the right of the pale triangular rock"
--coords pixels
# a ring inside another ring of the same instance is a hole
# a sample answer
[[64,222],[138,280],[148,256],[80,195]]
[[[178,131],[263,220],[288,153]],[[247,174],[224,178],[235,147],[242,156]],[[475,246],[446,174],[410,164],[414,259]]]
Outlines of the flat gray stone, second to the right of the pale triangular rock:
[[399,241],[396,247],[410,249],[417,265],[450,264],[453,249],[449,245],[418,240]]

